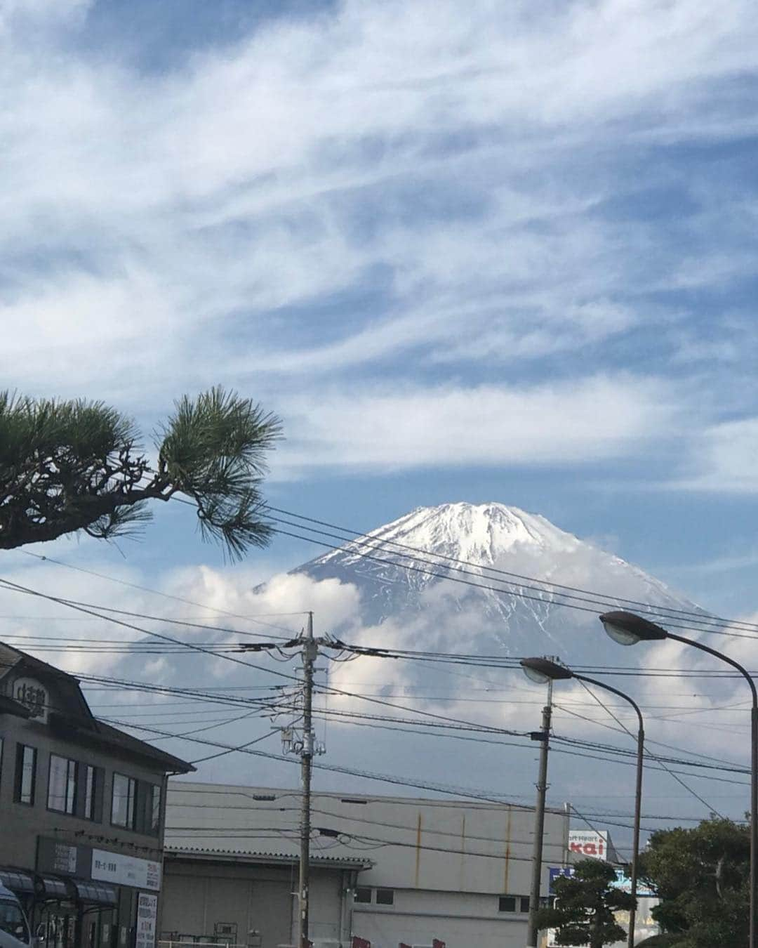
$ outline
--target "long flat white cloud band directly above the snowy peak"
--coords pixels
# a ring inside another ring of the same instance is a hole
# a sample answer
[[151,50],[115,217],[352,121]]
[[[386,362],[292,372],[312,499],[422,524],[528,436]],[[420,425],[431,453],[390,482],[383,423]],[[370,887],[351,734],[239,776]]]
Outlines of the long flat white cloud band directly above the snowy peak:
[[386,392],[327,391],[315,403],[289,403],[285,419],[296,447],[285,445],[277,464],[591,463],[633,451],[669,430],[675,416],[665,386],[624,376],[531,389],[408,384]]

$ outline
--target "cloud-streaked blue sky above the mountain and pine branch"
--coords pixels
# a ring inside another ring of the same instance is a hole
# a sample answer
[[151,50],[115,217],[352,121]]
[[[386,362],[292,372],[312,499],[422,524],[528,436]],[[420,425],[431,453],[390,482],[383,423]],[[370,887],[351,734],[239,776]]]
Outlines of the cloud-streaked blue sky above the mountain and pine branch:
[[[748,0],[0,0],[0,45],[5,386],[150,432],[221,383],[282,507],[503,501],[755,614]],[[229,570],[177,507],[52,552],[240,611],[317,551]]]

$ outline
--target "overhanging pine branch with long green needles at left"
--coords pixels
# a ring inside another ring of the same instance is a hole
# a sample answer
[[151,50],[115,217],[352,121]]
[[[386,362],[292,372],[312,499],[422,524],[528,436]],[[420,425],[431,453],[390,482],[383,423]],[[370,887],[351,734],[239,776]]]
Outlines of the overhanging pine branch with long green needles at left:
[[279,438],[275,415],[214,388],[174,403],[151,465],[132,419],[102,402],[0,392],[0,549],[134,533],[149,501],[183,495],[203,538],[241,557],[271,536],[261,485]]

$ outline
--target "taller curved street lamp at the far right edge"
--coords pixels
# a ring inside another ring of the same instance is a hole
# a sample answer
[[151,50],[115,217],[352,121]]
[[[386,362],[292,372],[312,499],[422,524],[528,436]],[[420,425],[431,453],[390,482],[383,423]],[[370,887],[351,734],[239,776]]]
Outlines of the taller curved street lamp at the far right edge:
[[642,618],[634,612],[614,611],[604,612],[600,617],[605,631],[619,645],[633,646],[638,642],[655,642],[660,639],[674,639],[686,646],[699,648],[709,655],[721,659],[743,675],[750,686],[752,695],[752,710],[750,715],[750,939],[749,948],[758,948],[758,903],[756,902],[755,886],[758,884],[758,692],[749,671],[729,655],[716,651],[715,648],[704,646],[694,639],[686,639],[682,635],[675,635],[668,629],[662,629],[655,622]]

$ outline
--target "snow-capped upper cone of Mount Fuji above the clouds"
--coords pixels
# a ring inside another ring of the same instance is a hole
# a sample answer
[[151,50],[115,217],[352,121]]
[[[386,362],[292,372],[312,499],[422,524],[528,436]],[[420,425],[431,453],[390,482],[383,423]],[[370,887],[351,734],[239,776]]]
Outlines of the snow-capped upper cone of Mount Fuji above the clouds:
[[619,556],[502,503],[418,508],[293,573],[352,584],[377,646],[384,630],[405,629],[408,647],[618,665],[599,612],[634,608],[623,600],[699,611]]

